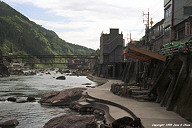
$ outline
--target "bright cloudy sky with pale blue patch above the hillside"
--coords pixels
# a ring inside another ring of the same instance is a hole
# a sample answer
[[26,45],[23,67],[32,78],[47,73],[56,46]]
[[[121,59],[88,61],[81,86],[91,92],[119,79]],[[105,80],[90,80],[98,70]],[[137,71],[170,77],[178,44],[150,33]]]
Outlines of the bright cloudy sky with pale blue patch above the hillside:
[[70,43],[100,47],[101,33],[119,28],[125,43],[144,36],[150,14],[154,24],[164,17],[164,0],[2,0],[44,28]]

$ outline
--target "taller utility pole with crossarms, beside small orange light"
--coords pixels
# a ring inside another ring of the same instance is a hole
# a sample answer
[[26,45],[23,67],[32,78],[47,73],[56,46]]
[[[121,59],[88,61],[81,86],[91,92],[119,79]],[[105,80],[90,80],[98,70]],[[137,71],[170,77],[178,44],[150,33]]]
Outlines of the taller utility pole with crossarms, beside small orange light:
[[146,29],[145,29],[145,45],[149,44],[149,9],[148,9],[148,13],[144,13],[143,12],[143,23],[145,23],[146,25]]

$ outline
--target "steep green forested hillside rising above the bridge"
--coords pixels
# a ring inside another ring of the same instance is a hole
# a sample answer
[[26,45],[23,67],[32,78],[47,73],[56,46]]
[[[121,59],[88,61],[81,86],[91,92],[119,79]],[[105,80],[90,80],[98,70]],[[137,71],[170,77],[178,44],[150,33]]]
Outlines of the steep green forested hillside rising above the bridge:
[[27,17],[1,1],[0,49],[4,54],[33,55],[89,55],[94,52],[93,49],[65,42],[55,32],[30,21]]

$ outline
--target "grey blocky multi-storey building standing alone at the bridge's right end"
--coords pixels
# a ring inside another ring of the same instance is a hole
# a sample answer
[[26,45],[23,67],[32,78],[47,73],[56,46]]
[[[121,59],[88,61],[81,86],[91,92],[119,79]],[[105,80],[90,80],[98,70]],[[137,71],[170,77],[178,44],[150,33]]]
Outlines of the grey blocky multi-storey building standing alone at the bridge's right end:
[[124,62],[123,47],[123,34],[119,34],[119,29],[110,29],[109,34],[101,34],[99,74],[106,77],[118,76],[119,63]]

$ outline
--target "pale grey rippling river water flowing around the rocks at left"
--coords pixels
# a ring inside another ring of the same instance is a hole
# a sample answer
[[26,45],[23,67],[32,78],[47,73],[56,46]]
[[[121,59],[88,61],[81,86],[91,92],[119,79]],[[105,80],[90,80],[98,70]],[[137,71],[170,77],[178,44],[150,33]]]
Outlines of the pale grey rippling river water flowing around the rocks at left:
[[[37,74],[34,76],[10,76],[0,78],[0,98],[17,97],[26,99],[33,96],[36,99],[52,90],[63,90],[74,87],[85,87],[85,83],[96,83],[88,80],[86,76],[66,76],[66,80],[56,80],[61,74],[55,71],[49,74]],[[42,128],[50,119],[63,115],[75,114],[68,108],[41,106],[38,100],[33,103],[14,103],[0,101],[0,122],[17,119],[17,128]]]

